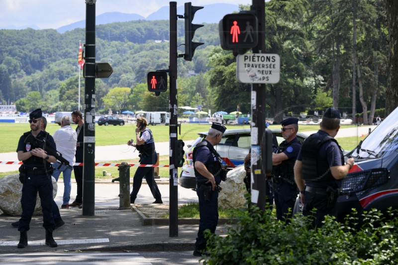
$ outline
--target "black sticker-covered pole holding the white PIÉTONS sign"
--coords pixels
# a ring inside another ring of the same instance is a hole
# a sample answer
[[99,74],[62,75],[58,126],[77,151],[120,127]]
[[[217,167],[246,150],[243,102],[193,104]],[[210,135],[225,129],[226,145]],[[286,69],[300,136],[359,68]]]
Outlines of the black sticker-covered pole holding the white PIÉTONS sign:
[[[253,53],[265,53],[265,1],[252,0],[252,10],[258,19],[258,44],[252,49]],[[261,210],[265,210],[267,181],[263,163],[266,162],[265,150],[265,84],[252,84],[252,139],[251,139],[251,168],[252,168],[252,202]],[[256,137],[257,136],[257,137]]]

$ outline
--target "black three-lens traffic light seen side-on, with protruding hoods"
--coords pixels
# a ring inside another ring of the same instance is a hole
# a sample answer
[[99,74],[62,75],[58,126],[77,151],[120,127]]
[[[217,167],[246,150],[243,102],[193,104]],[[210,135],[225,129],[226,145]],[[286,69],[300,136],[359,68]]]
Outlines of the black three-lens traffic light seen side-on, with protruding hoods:
[[203,6],[193,6],[191,2],[185,3],[185,55],[184,59],[186,61],[192,61],[192,57],[194,57],[195,49],[203,45],[202,42],[192,42],[192,39],[195,35],[195,30],[203,25],[192,24],[192,20],[194,20],[195,12],[199,9],[202,9]]

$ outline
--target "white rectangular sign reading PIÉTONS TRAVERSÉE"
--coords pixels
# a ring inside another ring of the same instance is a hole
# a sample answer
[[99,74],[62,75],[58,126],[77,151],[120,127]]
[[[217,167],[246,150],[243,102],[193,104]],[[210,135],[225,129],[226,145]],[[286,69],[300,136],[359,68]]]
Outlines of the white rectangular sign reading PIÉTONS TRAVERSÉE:
[[236,79],[240,83],[276,84],[280,78],[278,54],[246,53],[236,57]]

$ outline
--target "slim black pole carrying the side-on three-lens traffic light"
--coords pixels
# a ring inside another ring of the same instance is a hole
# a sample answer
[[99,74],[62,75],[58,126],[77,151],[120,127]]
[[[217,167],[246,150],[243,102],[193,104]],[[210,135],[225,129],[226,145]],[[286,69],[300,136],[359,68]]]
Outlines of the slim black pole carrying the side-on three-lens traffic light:
[[178,171],[173,152],[177,140],[177,19],[177,2],[170,2],[170,237],[178,236]]

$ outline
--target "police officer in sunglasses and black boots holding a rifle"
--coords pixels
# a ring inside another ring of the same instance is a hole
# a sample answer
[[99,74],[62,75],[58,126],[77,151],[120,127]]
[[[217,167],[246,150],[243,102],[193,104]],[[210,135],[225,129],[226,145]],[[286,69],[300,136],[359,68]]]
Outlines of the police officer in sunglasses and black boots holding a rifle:
[[28,245],[27,231],[36,205],[36,196],[39,192],[43,212],[43,227],[46,230],[46,245],[54,248],[57,243],[53,238],[55,222],[52,210],[53,185],[51,180],[52,167],[55,163],[54,156],[47,155],[46,151],[35,146],[25,139],[31,134],[40,141],[45,141],[53,149],[56,149],[54,139],[51,135],[41,130],[42,123],[41,109],[35,109],[29,114],[30,131],[24,133],[18,142],[16,149],[18,160],[23,162],[19,169],[22,186],[21,206],[22,214],[19,219],[18,231],[20,239],[18,248],[25,248]]

